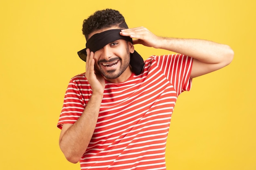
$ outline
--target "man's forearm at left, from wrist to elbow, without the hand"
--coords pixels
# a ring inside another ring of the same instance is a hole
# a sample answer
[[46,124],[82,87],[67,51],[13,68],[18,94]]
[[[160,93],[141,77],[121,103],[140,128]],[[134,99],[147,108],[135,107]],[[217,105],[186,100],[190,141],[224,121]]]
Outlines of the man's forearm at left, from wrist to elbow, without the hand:
[[103,95],[92,95],[83,114],[60,136],[59,145],[68,161],[76,163],[92,138]]

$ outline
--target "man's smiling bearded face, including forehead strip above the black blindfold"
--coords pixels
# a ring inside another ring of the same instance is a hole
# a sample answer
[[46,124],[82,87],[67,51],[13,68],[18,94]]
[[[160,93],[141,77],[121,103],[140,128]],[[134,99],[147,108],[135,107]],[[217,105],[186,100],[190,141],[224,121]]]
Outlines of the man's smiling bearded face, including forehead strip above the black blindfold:
[[[108,29],[101,29],[94,31],[89,35],[91,37],[95,33],[101,33],[109,29],[119,29],[119,27],[111,27]],[[130,69],[130,53],[134,52],[134,47],[131,42],[126,40],[115,40],[110,42],[102,49],[95,51],[94,60],[95,71],[101,73],[105,79],[110,82],[124,82],[126,81],[132,71]]]

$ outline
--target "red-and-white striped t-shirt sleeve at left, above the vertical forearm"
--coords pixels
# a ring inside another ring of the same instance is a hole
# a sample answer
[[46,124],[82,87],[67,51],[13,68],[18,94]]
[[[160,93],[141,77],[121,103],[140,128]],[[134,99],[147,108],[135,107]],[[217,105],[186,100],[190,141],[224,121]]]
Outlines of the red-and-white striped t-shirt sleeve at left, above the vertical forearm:
[[57,127],[61,129],[63,124],[74,124],[83,113],[84,108],[85,101],[79,88],[79,82],[72,78],[67,86]]

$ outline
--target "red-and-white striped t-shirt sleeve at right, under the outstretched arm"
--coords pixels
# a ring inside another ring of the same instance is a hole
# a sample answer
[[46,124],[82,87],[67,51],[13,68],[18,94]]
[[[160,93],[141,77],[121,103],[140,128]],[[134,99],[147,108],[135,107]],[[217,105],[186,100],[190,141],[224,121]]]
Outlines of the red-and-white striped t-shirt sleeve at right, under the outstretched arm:
[[163,74],[174,86],[177,95],[190,90],[192,84],[190,78],[193,64],[192,57],[182,54],[162,55],[159,56],[157,62]]

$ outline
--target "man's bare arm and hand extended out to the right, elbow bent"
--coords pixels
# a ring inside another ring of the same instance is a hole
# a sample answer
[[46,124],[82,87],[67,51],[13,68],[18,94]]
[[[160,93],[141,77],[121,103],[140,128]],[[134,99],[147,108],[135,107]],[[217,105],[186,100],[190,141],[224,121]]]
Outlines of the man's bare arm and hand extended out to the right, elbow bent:
[[144,27],[124,29],[120,34],[134,38],[133,44],[143,44],[193,57],[191,78],[227,66],[234,57],[234,52],[228,45],[199,39],[163,38]]

